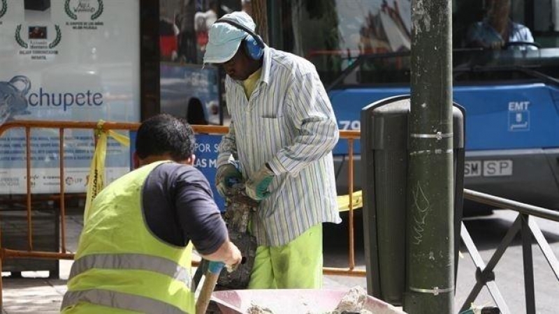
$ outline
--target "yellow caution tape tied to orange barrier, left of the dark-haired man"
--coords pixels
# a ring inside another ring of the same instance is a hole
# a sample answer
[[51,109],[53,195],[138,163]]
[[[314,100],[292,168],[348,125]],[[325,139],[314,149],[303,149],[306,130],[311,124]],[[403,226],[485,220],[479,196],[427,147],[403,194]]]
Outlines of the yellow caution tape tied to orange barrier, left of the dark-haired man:
[[89,215],[89,207],[91,207],[94,198],[103,190],[105,186],[105,159],[107,156],[107,135],[115,139],[123,146],[130,146],[130,138],[113,130],[103,130],[105,121],[100,120],[95,130],[97,144],[93,154],[92,163],[89,166],[89,175],[87,176],[87,195],[85,198],[84,219]]

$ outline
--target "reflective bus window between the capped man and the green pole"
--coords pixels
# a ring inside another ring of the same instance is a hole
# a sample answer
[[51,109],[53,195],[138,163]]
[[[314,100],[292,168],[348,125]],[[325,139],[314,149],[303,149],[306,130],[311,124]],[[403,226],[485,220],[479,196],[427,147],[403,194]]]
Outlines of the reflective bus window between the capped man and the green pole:
[[[359,56],[409,52],[411,47],[409,0],[282,1],[282,15],[283,46],[312,61],[325,84]],[[345,83],[409,82],[408,59],[368,58]]]

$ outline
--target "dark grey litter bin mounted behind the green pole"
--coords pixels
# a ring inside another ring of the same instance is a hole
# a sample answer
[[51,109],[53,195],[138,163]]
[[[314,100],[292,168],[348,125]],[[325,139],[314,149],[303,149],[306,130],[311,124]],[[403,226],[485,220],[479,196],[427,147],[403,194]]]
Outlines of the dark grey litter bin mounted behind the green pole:
[[[361,111],[365,174],[363,227],[368,294],[401,305],[406,281],[409,96],[379,100]],[[464,188],[465,110],[453,105],[455,260],[460,244]],[[455,263],[457,267],[458,262]],[[457,268],[455,268],[456,274]]]

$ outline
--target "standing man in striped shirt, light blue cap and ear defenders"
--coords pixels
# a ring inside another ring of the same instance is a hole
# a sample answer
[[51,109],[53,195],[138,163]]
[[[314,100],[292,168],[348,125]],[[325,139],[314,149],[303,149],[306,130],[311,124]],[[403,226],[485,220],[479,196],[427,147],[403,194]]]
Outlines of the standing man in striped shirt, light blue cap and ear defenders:
[[[322,223],[340,223],[332,105],[309,61],[267,47],[245,12],[212,25],[204,63],[222,66],[231,125],[219,144],[216,184],[245,178],[261,200],[252,214],[258,248],[250,289],[319,288]],[[239,163],[240,172],[235,167]]]

